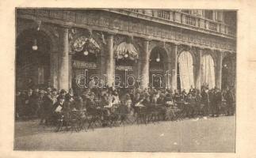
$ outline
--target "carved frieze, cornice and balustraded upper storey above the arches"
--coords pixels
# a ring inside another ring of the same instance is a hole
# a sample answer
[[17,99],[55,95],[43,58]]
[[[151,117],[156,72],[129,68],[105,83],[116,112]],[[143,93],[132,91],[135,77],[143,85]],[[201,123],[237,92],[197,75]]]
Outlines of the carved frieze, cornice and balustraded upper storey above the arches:
[[[56,35],[57,28],[66,27],[100,32],[102,35],[131,36],[162,43],[235,52],[235,11],[213,10],[213,14],[207,11],[209,10],[17,9],[17,24],[20,25],[17,29],[40,23],[49,29],[53,28],[52,32]],[[221,18],[218,13],[222,14]]]

